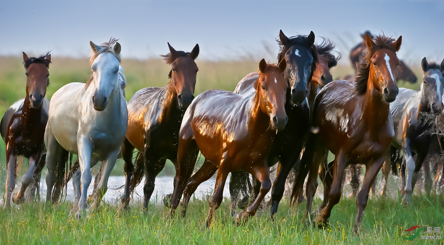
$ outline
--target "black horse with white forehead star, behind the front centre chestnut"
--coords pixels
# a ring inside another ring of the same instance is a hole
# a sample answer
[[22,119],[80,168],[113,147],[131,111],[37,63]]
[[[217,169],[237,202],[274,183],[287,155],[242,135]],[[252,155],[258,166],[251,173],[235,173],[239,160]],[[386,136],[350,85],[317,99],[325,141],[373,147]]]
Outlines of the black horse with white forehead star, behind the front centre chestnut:
[[[281,132],[277,132],[268,159],[269,167],[279,161],[276,179],[271,191],[272,207],[270,218],[274,218],[274,214],[277,212],[277,207],[284,194],[285,180],[289,171],[299,159],[305,136],[309,131],[309,106],[306,100],[307,87],[313,77],[313,73],[317,69],[316,64],[318,62],[314,37],[313,31],[308,36],[297,35],[291,38],[286,37],[282,30],[279,33],[278,44],[281,51],[277,55],[277,61],[281,62],[285,59],[288,64],[284,72],[284,78],[291,88],[291,97],[287,93],[285,113],[288,116],[288,123]],[[319,72],[319,74],[322,76],[324,73]],[[254,82],[257,78],[258,74],[248,74],[238,83],[234,92],[239,94],[251,93],[254,90]],[[298,168],[298,165],[295,167]],[[237,176],[233,174],[230,183],[242,182],[242,179],[233,179]],[[257,195],[259,189],[260,183],[255,181],[253,194]],[[237,193],[238,190],[231,190],[230,188],[232,214],[234,214],[236,207]],[[251,199],[254,199],[254,196]]]

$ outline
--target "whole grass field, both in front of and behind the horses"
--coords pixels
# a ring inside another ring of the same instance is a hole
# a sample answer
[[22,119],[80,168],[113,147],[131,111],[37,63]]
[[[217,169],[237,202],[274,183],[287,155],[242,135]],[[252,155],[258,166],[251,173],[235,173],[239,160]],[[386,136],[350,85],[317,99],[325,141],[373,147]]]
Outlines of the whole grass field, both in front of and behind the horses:
[[[19,57],[0,57],[0,115],[12,103],[25,95],[24,68]],[[147,86],[165,86],[170,67],[160,59],[123,60],[127,74],[127,100],[137,90]],[[197,61],[199,73],[196,94],[207,89],[233,90],[246,74],[258,70],[258,61]],[[414,68],[420,79],[419,67]],[[88,60],[52,57],[50,65],[50,86],[47,96],[69,82],[85,82],[91,73]],[[334,78],[351,73],[349,66],[333,68]],[[415,85],[400,83],[400,86],[417,89]],[[0,194],[4,192],[6,160],[4,144],[0,144]],[[22,173],[28,166],[19,172]],[[46,170],[44,170],[45,172]],[[123,163],[115,165],[113,175],[123,174]],[[167,164],[161,174],[174,174],[172,164]],[[345,196],[345,195],[343,195]],[[117,197],[119,198],[119,197]],[[399,200],[370,200],[364,213],[360,237],[352,234],[356,215],[355,199],[343,197],[333,209],[331,225],[325,229],[309,228],[302,225],[305,203],[299,210],[290,208],[283,199],[274,222],[268,219],[269,209],[260,211],[242,226],[232,224],[229,200],[224,200],[214,218],[213,226],[204,230],[208,199],[193,200],[185,219],[164,218],[166,208],[152,205],[142,214],[141,205],[130,211],[118,211],[117,207],[105,204],[93,214],[80,221],[69,217],[70,202],[63,202],[54,208],[42,203],[16,206],[11,210],[0,210],[0,244],[406,244],[398,237],[401,227],[414,225],[441,226],[444,224],[444,198],[432,195],[425,198],[417,194],[412,205],[404,207]],[[321,203],[315,199],[313,210]],[[407,235],[407,234],[403,234]],[[417,238],[411,243],[431,243]],[[436,244],[444,244],[442,239]]]

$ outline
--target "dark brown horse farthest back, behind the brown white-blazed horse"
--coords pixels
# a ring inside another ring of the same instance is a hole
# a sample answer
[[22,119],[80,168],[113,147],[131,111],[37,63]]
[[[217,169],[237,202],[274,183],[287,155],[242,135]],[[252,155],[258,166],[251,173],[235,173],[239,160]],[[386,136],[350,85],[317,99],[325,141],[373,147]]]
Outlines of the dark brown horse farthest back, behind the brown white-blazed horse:
[[[356,64],[360,64],[364,62],[365,53],[364,50],[366,48],[365,46],[365,35],[369,35],[372,39],[374,38],[374,35],[370,33],[370,31],[365,31],[364,34],[361,35],[362,42],[357,44],[353,49],[350,51],[350,61],[352,62],[353,68],[356,70]],[[349,81],[355,81],[355,75],[349,75],[347,79],[350,79]],[[344,78],[346,79],[346,78]],[[418,81],[418,78],[416,78],[416,75],[413,73],[413,71],[408,68],[408,66],[402,61],[399,61],[398,66],[398,76],[396,77],[396,81],[404,80],[410,83],[415,83]]]

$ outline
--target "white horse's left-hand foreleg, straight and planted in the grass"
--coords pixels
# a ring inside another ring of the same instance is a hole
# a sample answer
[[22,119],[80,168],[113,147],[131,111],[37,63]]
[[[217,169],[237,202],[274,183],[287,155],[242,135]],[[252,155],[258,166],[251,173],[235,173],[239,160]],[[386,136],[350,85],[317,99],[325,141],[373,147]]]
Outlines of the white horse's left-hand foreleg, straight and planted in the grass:
[[89,184],[91,183],[91,149],[92,142],[89,141],[86,136],[80,136],[78,140],[79,148],[79,165],[80,165],[80,200],[79,210],[75,213],[77,218],[82,217],[82,212],[86,210],[87,206],[87,191]]

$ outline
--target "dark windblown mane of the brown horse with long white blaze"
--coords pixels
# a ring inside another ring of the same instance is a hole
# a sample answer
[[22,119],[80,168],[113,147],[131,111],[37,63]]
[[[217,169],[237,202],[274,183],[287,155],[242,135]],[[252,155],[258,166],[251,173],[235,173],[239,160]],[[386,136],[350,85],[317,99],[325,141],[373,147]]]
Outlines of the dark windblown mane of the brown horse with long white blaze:
[[367,83],[369,82],[370,75],[370,59],[373,54],[380,49],[388,49],[396,54],[395,48],[392,47],[392,43],[395,41],[392,37],[387,37],[385,35],[377,35],[374,37],[373,42],[376,44],[371,48],[366,48],[364,53],[366,53],[364,61],[365,63],[357,64],[356,70],[356,91],[358,94],[364,94],[367,91]]

